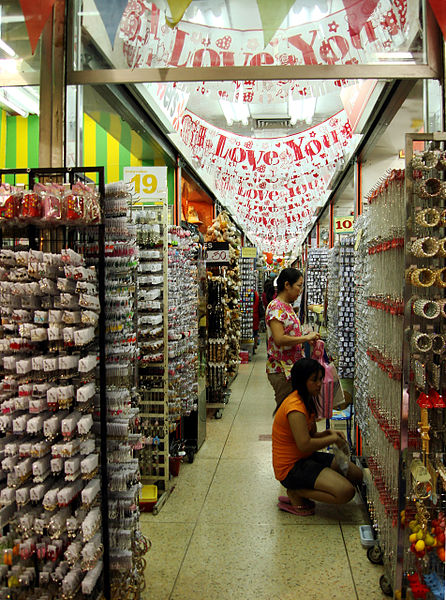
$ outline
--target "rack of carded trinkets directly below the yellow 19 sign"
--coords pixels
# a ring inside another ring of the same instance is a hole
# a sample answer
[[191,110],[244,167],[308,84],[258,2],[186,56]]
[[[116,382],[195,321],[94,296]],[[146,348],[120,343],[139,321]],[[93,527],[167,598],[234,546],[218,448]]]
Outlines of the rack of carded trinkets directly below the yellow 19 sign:
[[168,387],[168,212],[160,205],[132,206],[139,264],[137,271],[138,389],[143,483],[167,492],[169,431],[177,427],[169,414]]

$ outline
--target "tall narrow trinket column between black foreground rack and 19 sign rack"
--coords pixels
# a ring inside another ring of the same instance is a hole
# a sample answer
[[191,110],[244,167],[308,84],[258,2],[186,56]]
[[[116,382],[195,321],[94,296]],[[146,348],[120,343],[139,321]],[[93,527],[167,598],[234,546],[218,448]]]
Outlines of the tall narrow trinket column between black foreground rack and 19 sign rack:
[[123,182],[106,186],[105,305],[107,455],[109,480],[112,597],[144,586],[139,527],[140,470],[134,450],[141,445],[136,391],[136,227],[130,219],[131,195]]

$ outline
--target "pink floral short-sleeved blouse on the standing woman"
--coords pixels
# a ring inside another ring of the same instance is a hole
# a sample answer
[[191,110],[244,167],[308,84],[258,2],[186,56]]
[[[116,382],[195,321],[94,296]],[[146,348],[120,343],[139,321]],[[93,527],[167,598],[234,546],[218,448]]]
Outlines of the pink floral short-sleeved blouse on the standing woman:
[[304,352],[301,344],[293,346],[277,346],[274,343],[270,323],[277,319],[283,325],[285,335],[293,337],[302,337],[300,321],[293,310],[291,304],[275,298],[266,309],[265,321],[268,335],[268,358],[266,361],[267,373],[285,373],[287,379],[291,377],[291,367],[300,358],[304,358]]

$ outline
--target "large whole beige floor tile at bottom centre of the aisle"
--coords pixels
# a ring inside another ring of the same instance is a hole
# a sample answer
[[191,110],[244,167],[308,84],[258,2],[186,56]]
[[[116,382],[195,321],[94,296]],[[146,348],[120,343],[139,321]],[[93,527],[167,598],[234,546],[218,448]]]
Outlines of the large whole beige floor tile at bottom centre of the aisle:
[[338,525],[200,523],[171,596],[172,600],[297,598],[356,600]]

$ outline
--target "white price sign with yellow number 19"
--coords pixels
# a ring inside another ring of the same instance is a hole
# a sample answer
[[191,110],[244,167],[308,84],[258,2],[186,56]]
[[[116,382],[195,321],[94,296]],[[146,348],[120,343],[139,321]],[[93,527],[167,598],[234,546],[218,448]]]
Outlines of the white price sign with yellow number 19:
[[167,167],[125,167],[133,204],[157,204],[167,197]]

